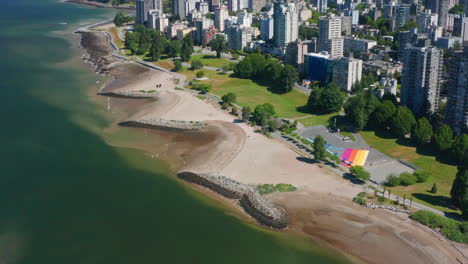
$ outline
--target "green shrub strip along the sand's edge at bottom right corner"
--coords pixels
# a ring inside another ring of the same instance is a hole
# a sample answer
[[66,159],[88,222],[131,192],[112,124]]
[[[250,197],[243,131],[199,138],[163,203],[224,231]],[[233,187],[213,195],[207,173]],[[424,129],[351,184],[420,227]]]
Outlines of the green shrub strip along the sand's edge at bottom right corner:
[[410,215],[410,218],[423,225],[429,226],[430,228],[440,228],[440,232],[450,240],[460,243],[468,242],[468,233],[466,229],[468,225],[466,222],[460,223],[456,220],[423,210]]

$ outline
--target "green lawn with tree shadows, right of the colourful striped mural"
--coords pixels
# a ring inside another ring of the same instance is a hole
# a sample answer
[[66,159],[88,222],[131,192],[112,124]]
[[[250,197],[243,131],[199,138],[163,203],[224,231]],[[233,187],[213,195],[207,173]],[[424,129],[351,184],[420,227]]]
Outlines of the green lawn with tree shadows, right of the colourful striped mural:
[[[399,196],[411,195],[415,201],[441,211],[458,212],[448,208],[450,206],[450,189],[457,173],[456,166],[441,163],[437,161],[435,156],[419,154],[416,152],[415,147],[400,145],[395,138],[382,138],[376,135],[374,131],[361,131],[360,134],[367,144],[380,152],[409,162],[431,173],[431,177],[427,182],[389,188],[392,193]],[[437,194],[429,192],[434,183],[437,183]]]

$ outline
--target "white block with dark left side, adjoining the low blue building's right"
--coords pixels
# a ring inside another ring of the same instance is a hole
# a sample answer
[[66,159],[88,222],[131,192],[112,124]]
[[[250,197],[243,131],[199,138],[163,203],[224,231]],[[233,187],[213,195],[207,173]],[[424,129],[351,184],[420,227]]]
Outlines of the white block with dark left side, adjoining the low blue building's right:
[[362,60],[341,57],[333,61],[333,82],[342,90],[351,92],[353,85],[361,81]]

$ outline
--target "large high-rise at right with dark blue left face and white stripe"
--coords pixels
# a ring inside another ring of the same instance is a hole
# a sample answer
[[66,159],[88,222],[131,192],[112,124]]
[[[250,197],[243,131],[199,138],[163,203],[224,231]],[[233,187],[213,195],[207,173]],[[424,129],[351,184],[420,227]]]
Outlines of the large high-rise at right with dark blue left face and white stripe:
[[401,103],[415,115],[439,109],[443,53],[433,47],[405,48],[401,79]]

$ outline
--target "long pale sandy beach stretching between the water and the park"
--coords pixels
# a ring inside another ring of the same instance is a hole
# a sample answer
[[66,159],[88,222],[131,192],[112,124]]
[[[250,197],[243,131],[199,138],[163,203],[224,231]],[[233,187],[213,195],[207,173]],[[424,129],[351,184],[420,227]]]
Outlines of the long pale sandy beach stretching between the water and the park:
[[[91,34],[91,35],[88,35]],[[87,47],[105,47],[100,33],[87,33]],[[93,36],[94,35],[94,36]],[[91,43],[100,43],[100,45]],[[215,102],[201,100],[195,93],[175,89],[174,76],[134,63],[112,63],[102,48],[95,59],[112,78],[104,91],[157,90],[155,100],[111,99],[109,111],[119,108],[126,118],[208,121],[198,142],[170,140],[182,160],[178,170],[220,174],[246,184],[289,183],[299,188],[291,193],[269,195],[290,215],[286,232],[311,236],[363,263],[467,263],[461,253],[431,229],[407,215],[373,210],[351,202],[362,191],[358,185],[320,167],[304,162],[288,145],[263,136]],[[110,69],[106,63],[112,63]],[[141,68],[141,69],[140,69]],[[128,69],[133,69],[129,73]],[[161,84],[160,88],[155,88]],[[119,120],[123,121],[123,120]],[[198,132],[200,133],[200,132]],[[189,137],[186,137],[189,138]],[[203,188],[197,188],[203,190]],[[221,200],[220,200],[221,201]],[[464,247],[465,255],[467,249]]]

